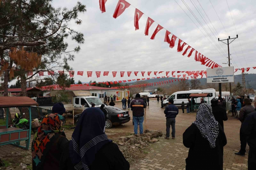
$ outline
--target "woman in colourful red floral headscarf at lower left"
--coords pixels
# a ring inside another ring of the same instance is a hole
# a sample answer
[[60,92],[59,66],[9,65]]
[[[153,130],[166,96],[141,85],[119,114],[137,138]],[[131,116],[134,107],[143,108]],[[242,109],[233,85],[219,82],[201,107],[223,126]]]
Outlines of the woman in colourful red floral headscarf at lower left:
[[59,114],[48,114],[42,120],[32,142],[33,170],[59,169],[62,150],[68,143],[63,122],[65,119]]

